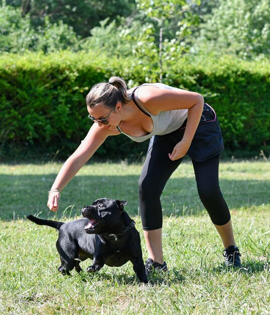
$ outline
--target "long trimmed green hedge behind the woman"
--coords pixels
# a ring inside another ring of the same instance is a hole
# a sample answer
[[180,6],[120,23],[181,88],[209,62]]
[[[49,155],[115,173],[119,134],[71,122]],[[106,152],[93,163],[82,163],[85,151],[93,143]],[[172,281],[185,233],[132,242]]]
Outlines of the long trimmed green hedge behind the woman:
[[[270,63],[232,57],[182,60],[165,69],[164,83],[196,91],[215,108],[227,152],[270,153]],[[130,85],[157,82],[143,62],[95,53],[2,55],[0,145],[2,160],[57,155],[66,159],[87,133],[85,96],[96,83],[120,75]],[[139,159],[147,143],[110,137],[96,156]]]

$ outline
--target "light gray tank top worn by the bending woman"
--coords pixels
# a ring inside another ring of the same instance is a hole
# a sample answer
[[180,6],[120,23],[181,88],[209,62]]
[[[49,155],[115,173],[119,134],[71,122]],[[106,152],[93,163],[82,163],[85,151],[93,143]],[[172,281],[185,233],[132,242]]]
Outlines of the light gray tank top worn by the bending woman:
[[[181,90],[173,87],[169,87],[163,83],[149,83],[149,84],[143,84],[145,85],[153,85],[155,87],[158,87],[159,89],[168,89],[168,90]],[[143,142],[147,139],[150,139],[154,135],[163,135],[171,133],[172,131],[175,131],[179,127],[181,127],[184,123],[184,121],[188,117],[188,110],[187,109],[176,109],[171,111],[164,111],[160,112],[158,115],[152,115],[148,112],[148,110],[143,107],[143,105],[140,103],[138,99],[138,90],[140,87],[135,91],[135,99],[138,102],[141,109],[147,113],[153,120],[153,130],[152,132],[146,134],[145,136],[140,137],[133,137],[127,133],[124,133],[120,127],[118,126],[118,130],[123,133],[124,135],[128,136],[130,139],[136,142]],[[184,90],[182,90],[184,91]],[[136,93],[137,92],[137,93]]]

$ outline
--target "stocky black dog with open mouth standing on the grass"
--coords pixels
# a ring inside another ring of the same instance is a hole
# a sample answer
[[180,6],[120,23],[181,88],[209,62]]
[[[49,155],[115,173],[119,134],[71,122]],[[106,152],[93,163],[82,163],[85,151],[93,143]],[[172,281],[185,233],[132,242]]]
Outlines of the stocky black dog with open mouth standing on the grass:
[[140,235],[135,222],[124,210],[126,204],[126,201],[98,199],[82,209],[84,218],[67,223],[33,215],[27,218],[59,229],[56,248],[61,260],[58,270],[62,274],[69,275],[73,268],[80,272],[79,263],[87,258],[93,259],[87,272],[99,271],[104,264],[119,267],[130,260],[139,280],[147,283]]

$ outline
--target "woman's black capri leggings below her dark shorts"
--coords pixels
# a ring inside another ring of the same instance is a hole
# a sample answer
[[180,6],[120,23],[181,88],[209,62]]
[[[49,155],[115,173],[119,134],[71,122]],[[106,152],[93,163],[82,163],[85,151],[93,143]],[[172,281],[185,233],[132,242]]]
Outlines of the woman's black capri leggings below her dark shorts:
[[[150,140],[139,179],[140,213],[144,230],[162,227],[160,195],[171,174],[183,161],[183,158],[171,161],[168,153],[172,152],[173,147],[180,140],[181,137],[175,141],[175,137],[170,134],[154,136]],[[230,212],[219,187],[219,157],[220,153],[203,162],[192,159],[192,163],[203,205],[214,224],[224,225],[230,220]]]

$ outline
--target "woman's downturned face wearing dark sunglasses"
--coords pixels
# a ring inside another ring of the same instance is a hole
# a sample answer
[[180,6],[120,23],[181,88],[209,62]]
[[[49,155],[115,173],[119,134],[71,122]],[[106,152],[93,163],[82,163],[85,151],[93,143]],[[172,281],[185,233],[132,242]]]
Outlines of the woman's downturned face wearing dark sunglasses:
[[99,126],[104,126],[109,129],[116,129],[121,121],[121,115],[119,114],[121,103],[117,103],[115,108],[111,109],[106,106],[87,107],[89,118],[98,123]]

